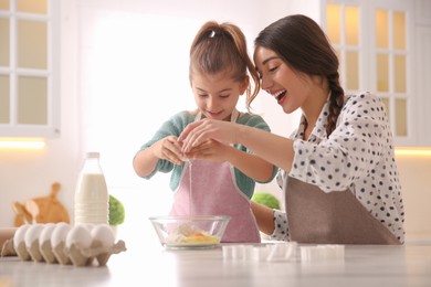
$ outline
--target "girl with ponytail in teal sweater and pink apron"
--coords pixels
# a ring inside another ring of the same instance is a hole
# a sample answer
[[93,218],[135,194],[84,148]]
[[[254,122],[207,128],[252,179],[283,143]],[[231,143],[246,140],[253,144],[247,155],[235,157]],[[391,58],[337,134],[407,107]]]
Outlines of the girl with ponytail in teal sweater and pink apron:
[[[248,72],[255,85],[252,93]],[[243,145],[212,139],[190,150],[190,160],[183,161],[186,155],[177,138],[187,125],[201,119],[270,131],[262,117],[235,108],[240,95],[246,93],[250,109],[260,88],[238,26],[213,21],[203,24],[190,49],[189,78],[198,109],[180,111],[166,121],[136,153],[134,169],[145,179],[158,171],[171,172],[175,200],[170,214],[230,215],[222,242],[259,243],[250,199],[255,181],[270,182],[277,169]]]

